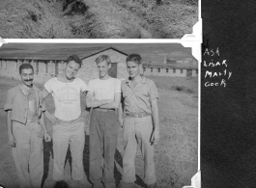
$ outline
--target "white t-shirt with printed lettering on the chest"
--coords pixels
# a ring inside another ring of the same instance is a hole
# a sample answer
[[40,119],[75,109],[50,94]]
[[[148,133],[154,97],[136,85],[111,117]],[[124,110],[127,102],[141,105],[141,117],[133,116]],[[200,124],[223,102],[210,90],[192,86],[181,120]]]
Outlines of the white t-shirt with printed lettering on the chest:
[[44,84],[44,88],[53,96],[56,118],[72,121],[80,117],[80,93],[87,90],[87,85],[81,78],[75,78],[71,83],[51,78]]

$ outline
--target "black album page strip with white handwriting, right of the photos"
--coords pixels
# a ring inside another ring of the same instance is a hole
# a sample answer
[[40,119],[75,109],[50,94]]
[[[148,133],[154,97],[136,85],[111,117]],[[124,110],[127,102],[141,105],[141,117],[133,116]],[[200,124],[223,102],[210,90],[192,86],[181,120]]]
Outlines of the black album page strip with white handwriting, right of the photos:
[[[256,1],[202,0],[201,6],[202,61],[226,60],[232,71],[225,88],[206,88],[209,68],[201,64],[202,187],[255,188]],[[217,47],[219,57],[203,56]]]

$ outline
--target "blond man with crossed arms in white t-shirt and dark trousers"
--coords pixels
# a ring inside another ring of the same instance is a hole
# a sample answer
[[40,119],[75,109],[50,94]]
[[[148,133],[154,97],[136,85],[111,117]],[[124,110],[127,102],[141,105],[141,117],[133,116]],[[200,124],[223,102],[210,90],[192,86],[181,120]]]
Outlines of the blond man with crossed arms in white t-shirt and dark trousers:
[[109,76],[110,63],[106,55],[96,59],[100,78],[91,80],[87,89],[86,105],[93,108],[90,121],[90,179],[94,188],[103,187],[101,181],[105,188],[115,187],[114,155],[119,128],[116,109],[121,100],[121,80]]

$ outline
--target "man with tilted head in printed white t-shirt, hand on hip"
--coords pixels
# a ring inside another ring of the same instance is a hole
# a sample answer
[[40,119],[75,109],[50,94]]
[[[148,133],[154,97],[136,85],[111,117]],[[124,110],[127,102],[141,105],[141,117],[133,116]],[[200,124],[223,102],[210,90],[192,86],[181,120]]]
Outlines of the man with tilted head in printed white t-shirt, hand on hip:
[[[54,77],[44,84],[43,99],[52,94],[55,106],[54,115],[47,115],[53,122],[53,180],[64,180],[64,166],[67,150],[71,149],[71,177],[82,180],[84,150],[84,118],[81,113],[80,93],[87,90],[87,85],[75,77],[82,61],[72,55],[67,60],[63,74]],[[78,181],[77,181],[78,182]],[[80,182],[80,181],[79,181]]]

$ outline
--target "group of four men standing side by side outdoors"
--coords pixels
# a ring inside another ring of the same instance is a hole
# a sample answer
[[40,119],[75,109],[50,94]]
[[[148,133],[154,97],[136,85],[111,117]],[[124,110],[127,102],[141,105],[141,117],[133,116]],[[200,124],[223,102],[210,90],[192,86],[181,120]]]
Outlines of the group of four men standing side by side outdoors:
[[[53,180],[64,180],[69,146],[71,177],[77,181],[84,178],[84,120],[90,115],[89,160],[93,187],[116,186],[114,155],[120,125],[124,128],[125,141],[120,187],[134,186],[137,145],[144,158],[144,181],[148,187],[156,187],[154,143],[159,140],[156,85],[140,74],[142,66],[138,54],[128,55],[129,77],[123,82],[109,76],[111,60],[107,55],[100,55],[96,64],[99,78],[91,80],[87,86],[75,77],[82,61],[76,55],[70,56],[63,74],[48,80],[43,91],[33,85],[33,67],[30,64],[19,67],[21,83],[8,92],[4,109],[21,188],[42,186],[43,138],[46,142],[51,140],[44,114],[53,122]],[[86,95],[86,107],[92,109],[91,113],[81,111],[80,93]],[[43,103],[48,94],[53,96],[54,114],[49,114]]]

